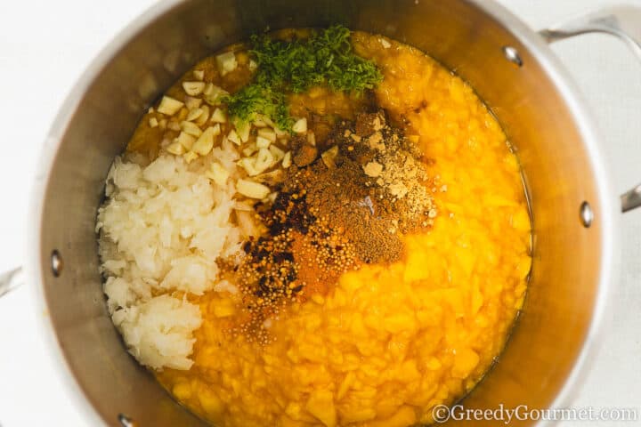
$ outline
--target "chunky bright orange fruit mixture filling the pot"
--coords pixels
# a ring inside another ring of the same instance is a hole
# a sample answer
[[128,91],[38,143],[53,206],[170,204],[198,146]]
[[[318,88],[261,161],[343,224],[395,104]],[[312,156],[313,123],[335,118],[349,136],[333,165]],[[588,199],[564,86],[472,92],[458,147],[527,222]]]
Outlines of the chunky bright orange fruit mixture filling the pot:
[[[403,117],[405,133],[434,159],[439,214],[431,230],[404,238],[402,261],[365,265],[329,294],[291,304],[272,322],[266,345],[227,332],[239,316],[238,296],[195,298],[204,322],[193,367],[156,375],[215,425],[430,423],[434,406],[451,404],[481,379],[523,304],[531,224],[519,165],[496,118],[424,52],[361,32],[353,33],[353,46],[383,72],[374,91],[379,107],[399,123]],[[249,78],[220,77],[214,68],[207,59],[194,69],[215,85],[238,87]],[[361,100],[314,88],[290,102],[296,117],[350,118]],[[130,149],[157,142],[147,122]]]

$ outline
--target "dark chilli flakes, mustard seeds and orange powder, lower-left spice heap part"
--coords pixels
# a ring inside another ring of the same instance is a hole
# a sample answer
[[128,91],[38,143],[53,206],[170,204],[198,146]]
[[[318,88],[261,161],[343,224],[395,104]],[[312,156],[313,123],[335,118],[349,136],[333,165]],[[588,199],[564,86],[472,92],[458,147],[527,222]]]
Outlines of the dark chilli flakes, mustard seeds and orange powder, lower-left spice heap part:
[[327,294],[341,274],[358,267],[353,244],[305,198],[304,189],[280,192],[272,206],[259,210],[267,235],[243,246],[247,256],[235,281],[248,314],[239,332],[249,340],[270,342],[268,318],[277,318],[288,302]]

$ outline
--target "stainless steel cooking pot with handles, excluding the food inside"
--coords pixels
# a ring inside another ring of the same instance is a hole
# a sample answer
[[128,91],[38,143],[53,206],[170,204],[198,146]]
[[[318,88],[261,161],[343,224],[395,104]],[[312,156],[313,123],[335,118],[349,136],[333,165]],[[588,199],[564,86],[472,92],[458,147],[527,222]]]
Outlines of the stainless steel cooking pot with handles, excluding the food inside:
[[[641,52],[641,9],[606,9],[537,34],[489,0],[167,0],[118,35],[78,81],[45,142],[36,182],[27,281],[87,425],[204,425],[128,355],[107,312],[95,215],[114,157],[142,112],[196,60],[265,28],[337,22],[414,45],[456,70],[499,118],[523,166],[530,288],[506,349],[463,404],[546,408],[572,399],[616,282],[617,217],[641,205],[641,186],[614,196],[594,122],[548,42],[601,31]],[[19,272],[0,278],[0,294]]]

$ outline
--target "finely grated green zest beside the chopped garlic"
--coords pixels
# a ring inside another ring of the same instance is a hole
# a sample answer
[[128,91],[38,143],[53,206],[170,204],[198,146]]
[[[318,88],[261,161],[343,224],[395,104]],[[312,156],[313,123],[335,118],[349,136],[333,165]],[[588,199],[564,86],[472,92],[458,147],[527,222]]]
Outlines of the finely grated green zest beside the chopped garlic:
[[362,93],[383,79],[377,66],[357,56],[350,31],[334,26],[291,42],[252,36],[250,54],[258,68],[254,82],[224,100],[232,117],[250,122],[264,114],[284,131],[293,124],[285,93],[302,93],[315,85]]

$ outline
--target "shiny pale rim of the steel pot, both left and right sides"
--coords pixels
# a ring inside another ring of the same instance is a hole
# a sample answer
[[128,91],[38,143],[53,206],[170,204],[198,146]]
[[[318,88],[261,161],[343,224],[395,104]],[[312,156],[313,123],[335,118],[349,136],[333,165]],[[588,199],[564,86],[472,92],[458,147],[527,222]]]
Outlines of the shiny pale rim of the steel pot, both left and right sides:
[[[604,164],[604,157],[601,155],[599,141],[602,141],[597,130],[596,122],[591,113],[588,111],[580,91],[574,84],[572,77],[569,76],[556,54],[549,48],[543,38],[523,23],[514,13],[509,12],[504,6],[498,4],[496,0],[465,0],[473,4],[480,11],[483,11],[494,20],[499,21],[515,38],[521,43],[531,55],[538,61],[539,65],[546,72],[548,77],[554,82],[556,90],[562,95],[568,109],[572,111],[575,123],[580,131],[583,144],[588,151],[592,174],[595,177],[597,200],[592,201],[593,205],[599,206],[600,213],[600,233],[602,242],[601,269],[599,272],[598,290],[596,293],[596,302],[592,312],[592,318],[588,326],[588,333],[583,342],[580,354],[577,357],[572,371],[568,375],[565,383],[550,407],[564,407],[572,400],[572,393],[576,391],[588,376],[588,367],[594,362],[598,350],[598,342],[603,334],[604,312],[609,305],[608,296],[612,293],[609,288],[615,285],[619,273],[619,252],[618,245],[618,217],[617,210],[618,199],[615,196],[613,187],[610,182],[607,167]],[[78,412],[90,423],[88,425],[107,425],[107,421],[93,407],[86,397],[82,387],[77,382],[76,377],[69,366],[64,352],[61,348],[61,342],[58,340],[53,323],[49,320],[49,313],[44,291],[45,274],[49,274],[48,263],[42,262],[41,254],[43,251],[41,241],[41,230],[45,226],[43,218],[43,207],[45,194],[49,178],[52,173],[52,167],[55,158],[58,155],[58,149],[61,145],[62,137],[69,126],[71,117],[77,109],[84,94],[93,84],[101,70],[113,60],[118,52],[129,41],[139,34],[144,28],[147,28],[151,22],[158,20],[166,12],[170,12],[175,6],[182,4],[183,0],[160,0],[158,4],[153,4],[138,17],[132,20],[121,29],[116,36],[101,48],[101,51],[93,58],[85,72],[78,78],[65,101],[61,104],[58,114],[53,120],[45,143],[42,148],[42,154],[37,167],[37,176],[33,182],[31,191],[31,200],[29,205],[28,223],[37,224],[36,227],[28,227],[27,235],[27,253],[25,254],[25,271],[26,278],[30,284],[28,287],[32,293],[32,298],[36,302],[35,310],[37,322],[41,335],[45,342],[48,342],[52,349],[51,357],[57,366],[63,367],[58,370],[58,376],[61,383],[65,385],[65,393],[72,395],[72,402],[78,408]],[[578,214],[578,210],[577,210]],[[508,344],[509,345],[509,344]],[[114,414],[116,421],[117,414]],[[540,422],[538,425],[549,425],[553,422]]]

